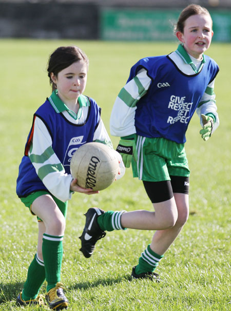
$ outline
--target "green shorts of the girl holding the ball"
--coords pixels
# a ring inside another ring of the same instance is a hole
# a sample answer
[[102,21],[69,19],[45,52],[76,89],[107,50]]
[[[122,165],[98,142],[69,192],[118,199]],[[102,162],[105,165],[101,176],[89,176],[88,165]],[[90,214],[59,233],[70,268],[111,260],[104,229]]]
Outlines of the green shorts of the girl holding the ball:
[[[32,192],[29,196],[27,196],[25,198],[20,198],[20,200],[23,202],[23,204],[25,206],[27,206],[30,209],[30,212],[32,213],[32,215],[34,215],[34,213],[31,211],[31,205],[35,199],[37,199],[38,197],[41,197],[43,195],[50,195],[53,198],[54,202],[57,204],[57,207],[59,207],[59,209],[62,211],[62,213],[66,219],[68,201],[66,201],[66,202],[60,201],[59,199],[57,199],[53,195],[51,195],[51,193],[49,193],[48,191]],[[42,221],[42,219],[37,217],[37,221]]]

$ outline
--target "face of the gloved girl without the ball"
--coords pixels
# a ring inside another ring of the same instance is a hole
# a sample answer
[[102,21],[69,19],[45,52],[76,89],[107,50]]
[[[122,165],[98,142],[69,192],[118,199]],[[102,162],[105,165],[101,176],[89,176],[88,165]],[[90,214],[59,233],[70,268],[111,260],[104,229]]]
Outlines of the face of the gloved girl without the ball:
[[184,23],[184,33],[176,33],[188,54],[198,60],[209,48],[213,34],[212,21],[208,14],[191,15]]

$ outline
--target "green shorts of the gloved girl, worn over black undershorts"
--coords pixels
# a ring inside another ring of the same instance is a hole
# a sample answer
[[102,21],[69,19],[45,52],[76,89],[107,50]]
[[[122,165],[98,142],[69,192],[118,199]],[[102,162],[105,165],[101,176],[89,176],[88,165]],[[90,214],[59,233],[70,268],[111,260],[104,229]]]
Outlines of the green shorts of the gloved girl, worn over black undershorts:
[[189,177],[190,170],[184,144],[165,138],[147,138],[136,135],[138,161],[132,158],[133,177],[159,182],[170,176]]

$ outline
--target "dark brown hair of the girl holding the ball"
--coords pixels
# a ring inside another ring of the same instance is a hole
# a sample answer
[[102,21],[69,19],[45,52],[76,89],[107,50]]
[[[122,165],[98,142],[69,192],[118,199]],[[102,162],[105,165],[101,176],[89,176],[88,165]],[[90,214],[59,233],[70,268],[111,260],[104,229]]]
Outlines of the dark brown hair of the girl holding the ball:
[[76,46],[61,46],[53,51],[53,53],[49,57],[47,65],[47,71],[50,78],[52,91],[56,89],[56,85],[51,80],[51,72],[53,72],[53,74],[57,76],[57,74],[61,70],[81,60],[83,60],[87,64],[88,68],[89,60],[87,55],[79,47]]

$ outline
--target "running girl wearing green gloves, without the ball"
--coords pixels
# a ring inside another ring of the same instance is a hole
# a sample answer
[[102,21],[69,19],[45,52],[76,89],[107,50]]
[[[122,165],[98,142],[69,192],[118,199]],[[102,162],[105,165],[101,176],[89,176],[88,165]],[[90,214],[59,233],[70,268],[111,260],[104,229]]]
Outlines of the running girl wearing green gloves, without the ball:
[[[101,210],[89,230],[94,215],[89,209],[81,250],[90,257],[106,230],[156,230],[132,269],[135,279],[159,280],[154,271],[188,219],[190,171],[184,143],[192,115],[197,111],[200,117],[204,141],[219,125],[214,94],[219,67],[204,55],[213,37],[212,26],[205,8],[187,6],[176,26],[177,50],[145,57],[132,66],[112,109],[111,134],[121,137],[117,150],[126,167],[131,163],[133,177],[143,181],[155,211]],[[92,240],[86,241],[85,233]]]

